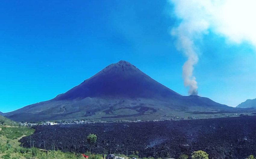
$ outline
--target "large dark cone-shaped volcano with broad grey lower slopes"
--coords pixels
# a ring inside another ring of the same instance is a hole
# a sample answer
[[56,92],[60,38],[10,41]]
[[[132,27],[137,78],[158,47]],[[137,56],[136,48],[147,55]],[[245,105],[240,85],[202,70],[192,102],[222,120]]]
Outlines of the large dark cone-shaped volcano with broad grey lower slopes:
[[230,107],[200,96],[182,96],[121,60],[54,99],[28,105],[5,116],[15,121],[149,120],[223,109]]

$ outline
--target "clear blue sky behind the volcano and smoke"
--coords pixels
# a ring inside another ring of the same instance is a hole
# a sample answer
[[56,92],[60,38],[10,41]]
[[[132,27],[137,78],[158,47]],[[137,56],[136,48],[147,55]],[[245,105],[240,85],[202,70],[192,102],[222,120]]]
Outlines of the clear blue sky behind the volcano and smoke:
[[[105,66],[126,60],[188,95],[170,32],[180,19],[167,1],[2,1],[0,111],[54,98]],[[198,95],[229,106],[256,98],[256,55],[209,31],[200,40]]]

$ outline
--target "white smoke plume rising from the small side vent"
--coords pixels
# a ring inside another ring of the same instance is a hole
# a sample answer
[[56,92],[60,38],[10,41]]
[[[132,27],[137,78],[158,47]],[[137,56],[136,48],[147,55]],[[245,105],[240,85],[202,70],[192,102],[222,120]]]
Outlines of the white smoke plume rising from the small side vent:
[[225,37],[228,43],[247,42],[256,48],[256,1],[255,0],[169,0],[174,6],[174,15],[179,25],[172,29],[177,49],[188,60],[183,65],[184,85],[190,95],[197,95],[197,82],[193,76],[198,62],[200,39],[211,30]]

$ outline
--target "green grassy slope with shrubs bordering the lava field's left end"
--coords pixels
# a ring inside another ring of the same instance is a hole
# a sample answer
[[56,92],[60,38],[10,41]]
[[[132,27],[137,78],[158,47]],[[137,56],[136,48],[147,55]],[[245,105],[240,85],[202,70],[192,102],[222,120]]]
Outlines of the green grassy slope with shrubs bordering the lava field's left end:
[[[64,153],[60,151],[49,151],[48,153],[42,152],[37,148],[27,149],[20,147],[19,140],[24,136],[33,134],[34,130],[31,128],[14,126],[13,122],[8,120],[5,124],[0,125],[0,158],[3,159],[55,159],[55,158],[71,158],[82,159],[81,155],[73,153]],[[98,158],[96,158],[98,157]],[[99,159],[99,155],[94,155],[94,158]]]

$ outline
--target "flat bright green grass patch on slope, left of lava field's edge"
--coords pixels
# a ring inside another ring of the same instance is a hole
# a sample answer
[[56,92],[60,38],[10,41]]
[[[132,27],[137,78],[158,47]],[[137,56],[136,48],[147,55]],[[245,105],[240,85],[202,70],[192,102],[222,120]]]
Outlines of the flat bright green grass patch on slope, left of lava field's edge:
[[34,133],[34,129],[26,127],[2,127],[0,134],[8,139],[14,140],[22,136],[29,136]]

